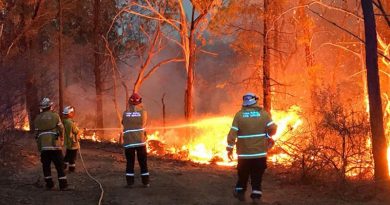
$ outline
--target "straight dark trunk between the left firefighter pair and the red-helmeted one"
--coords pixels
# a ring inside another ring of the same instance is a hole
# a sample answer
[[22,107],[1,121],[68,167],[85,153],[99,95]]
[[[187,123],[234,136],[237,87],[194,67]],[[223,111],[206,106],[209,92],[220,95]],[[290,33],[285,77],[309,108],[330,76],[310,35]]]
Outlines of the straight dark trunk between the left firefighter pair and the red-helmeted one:
[[96,126],[103,127],[103,80],[100,69],[100,0],[94,1],[94,74],[95,74],[95,90],[96,90]]

